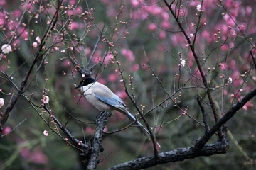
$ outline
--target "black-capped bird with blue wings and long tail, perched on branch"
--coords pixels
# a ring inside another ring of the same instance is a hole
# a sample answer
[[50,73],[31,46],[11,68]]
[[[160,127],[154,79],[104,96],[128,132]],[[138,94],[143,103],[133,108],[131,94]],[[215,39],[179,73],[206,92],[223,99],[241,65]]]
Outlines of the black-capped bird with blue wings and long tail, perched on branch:
[[92,106],[95,106],[97,110],[101,112],[112,112],[116,110],[120,113],[123,113],[129,118],[129,120],[137,125],[137,128],[139,128],[140,132],[142,132],[149,140],[151,140],[149,130],[144,128],[142,123],[139,123],[139,121],[134,118],[132,113],[129,113],[124,101],[122,101],[119,96],[114,94],[107,86],[95,81],[95,79],[92,77],[85,77],[82,79],[82,81],[80,81],[78,86],[75,86],[75,89],[78,88],[80,88],[87,101],[89,101]]

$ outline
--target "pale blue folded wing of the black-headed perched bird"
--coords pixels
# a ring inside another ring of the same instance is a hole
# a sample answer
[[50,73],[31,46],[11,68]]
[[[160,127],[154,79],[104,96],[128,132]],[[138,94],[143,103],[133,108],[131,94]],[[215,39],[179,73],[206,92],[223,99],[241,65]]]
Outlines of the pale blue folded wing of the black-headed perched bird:
[[107,105],[113,106],[114,108],[117,108],[118,110],[127,112],[127,106],[124,104],[121,98],[119,98],[117,95],[113,94],[110,96],[101,96],[100,94],[97,94],[94,92],[95,97]]

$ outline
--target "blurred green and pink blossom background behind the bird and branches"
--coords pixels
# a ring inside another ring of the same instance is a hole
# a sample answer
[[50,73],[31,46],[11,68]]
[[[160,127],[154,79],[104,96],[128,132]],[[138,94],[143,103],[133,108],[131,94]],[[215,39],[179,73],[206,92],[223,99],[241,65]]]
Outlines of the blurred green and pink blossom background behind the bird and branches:
[[[46,33],[56,5],[57,1],[0,2],[1,46],[13,40],[12,51],[1,55],[0,67],[17,86],[28,72],[37,52],[34,42],[40,44],[36,38]],[[232,103],[255,88],[255,65],[250,55],[250,51],[255,55],[255,3],[178,1],[177,6],[180,6],[176,8],[178,21],[191,41],[195,41],[194,47],[221,116]],[[175,8],[175,4],[172,7]],[[101,32],[112,43],[98,40]],[[16,37],[11,39],[13,35]],[[95,125],[88,122],[93,123],[99,111],[74,89],[82,75],[70,58],[76,59],[80,67],[100,62],[93,70],[98,81],[120,96],[131,113],[138,111],[125,93],[124,85],[137,106],[143,108],[144,113],[150,111],[146,119],[154,127],[156,141],[161,145],[159,152],[191,147],[203,135],[198,96],[203,98],[210,127],[214,123],[188,42],[163,1],[63,1],[58,23],[44,46],[45,57],[33,69],[24,94],[38,106],[43,95],[49,96],[47,106],[61,123],[68,121],[68,130],[78,140],[90,140]],[[112,56],[111,52],[116,53],[108,60],[106,56]],[[232,82],[228,82],[229,78]],[[0,98],[5,101],[0,108],[3,112],[17,89],[4,74],[0,74],[0,89]],[[165,101],[169,96],[173,100]],[[255,98],[226,124],[228,153],[151,169],[255,169],[254,103]],[[32,108],[25,98],[19,98],[5,124],[4,134],[15,130],[1,137],[0,169],[85,169],[78,150],[50,130],[43,118],[50,123],[48,113]],[[54,127],[53,123],[50,125]],[[127,125],[129,120],[124,115],[113,112],[105,130],[112,132]],[[48,136],[43,135],[44,130]],[[62,132],[60,135],[65,137]],[[210,142],[216,140],[213,136]],[[154,154],[150,142],[134,127],[104,135],[102,146],[104,152],[100,158],[104,160],[98,169]]]

